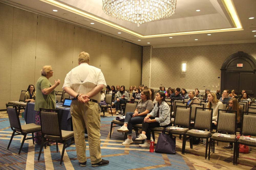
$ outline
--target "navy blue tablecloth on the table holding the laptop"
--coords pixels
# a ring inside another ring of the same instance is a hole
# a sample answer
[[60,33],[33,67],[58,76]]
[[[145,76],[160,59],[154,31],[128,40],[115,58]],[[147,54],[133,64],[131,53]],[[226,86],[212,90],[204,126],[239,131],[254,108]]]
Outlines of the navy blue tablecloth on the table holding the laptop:
[[[35,120],[36,111],[34,110],[34,108],[35,108],[34,102],[27,103],[27,106],[24,111],[24,119],[26,121],[26,124],[36,122]],[[60,110],[60,114],[62,114],[61,129],[71,131],[70,110],[60,109],[60,108],[59,110]]]

